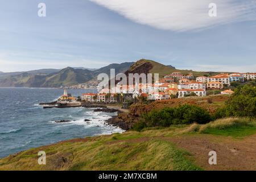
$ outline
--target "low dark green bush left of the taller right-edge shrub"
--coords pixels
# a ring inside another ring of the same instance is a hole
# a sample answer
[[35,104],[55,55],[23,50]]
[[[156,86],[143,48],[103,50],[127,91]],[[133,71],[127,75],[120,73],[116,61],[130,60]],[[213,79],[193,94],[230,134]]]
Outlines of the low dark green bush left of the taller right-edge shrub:
[[191,124],[194,122],[203,124],[210,121],[207,110],[194,105],[181,105],[178,107],[165,107],[161,110],[152,110],[142,115],[141,121],[136,123],[134,130],[140,131],[144,127],[164,126],[177,124]]

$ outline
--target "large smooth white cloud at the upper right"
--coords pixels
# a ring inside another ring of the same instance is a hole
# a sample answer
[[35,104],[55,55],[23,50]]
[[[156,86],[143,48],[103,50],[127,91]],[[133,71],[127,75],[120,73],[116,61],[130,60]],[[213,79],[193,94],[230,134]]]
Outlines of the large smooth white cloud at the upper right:
[[[254,0],[90,0],[134,22],[172,31],[199,30],[255,19]],[[217,17],[208,15],[216,3]]]

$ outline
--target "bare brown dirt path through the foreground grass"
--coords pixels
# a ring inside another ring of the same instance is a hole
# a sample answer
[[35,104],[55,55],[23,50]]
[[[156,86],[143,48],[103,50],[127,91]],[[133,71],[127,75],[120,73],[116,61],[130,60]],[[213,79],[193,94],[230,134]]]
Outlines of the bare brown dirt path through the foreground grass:
[[[254,170],[256,171],[256,135],[244,139],[216,137],[212,135],[194,135],[181,137],[156,137],[188,151],[195,163],[205,170]],[[143,137],[125,140],[127,142],[145,142],[152,138]],[[113,142],[122,142],[117,140]],[[111,142],[110,142],[111,143]],[[209,151],[216,151],[217,165],[210,165]]]

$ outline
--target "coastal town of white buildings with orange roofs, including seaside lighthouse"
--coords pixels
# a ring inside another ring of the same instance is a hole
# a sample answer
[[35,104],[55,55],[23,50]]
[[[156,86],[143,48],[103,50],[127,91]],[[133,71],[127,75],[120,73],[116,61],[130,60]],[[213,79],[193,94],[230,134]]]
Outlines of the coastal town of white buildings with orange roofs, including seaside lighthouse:
[[[139,101],[152,102],[180,97],[205,97],[215,94],[232,94],[233,85],[253,81],[256,73],[220,73],[214,76],[194,77],[192,73],[183,75],[173,72],[154,84],[117,84],[117,92],[101,89],[98,93],[83,93],[72,96],[64,89],[64,94],[57,100],[58,106],[81,106],[84,104],[122,104],[123,108]],[[56,103],[55,103],[56,104]]]

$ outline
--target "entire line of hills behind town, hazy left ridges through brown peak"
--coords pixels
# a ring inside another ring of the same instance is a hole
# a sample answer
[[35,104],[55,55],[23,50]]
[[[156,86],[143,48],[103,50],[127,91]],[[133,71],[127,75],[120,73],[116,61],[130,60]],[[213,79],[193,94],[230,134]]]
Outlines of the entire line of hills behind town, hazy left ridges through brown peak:
[[[184,75],[193,73],[194,76],[216,75],[217,72],[195,72],[191,70],[175,69],[171,65],[163,65],[152,60],[138,60],[136,63],[126,62],[121,64],[110,64],[100,69],[64,68],[39,69],[28,72],[0,73],[0,87],[60,87],[72,86],[96,80],[100,73],[110,75],[110,69],[115,69],[115,74],[125,73],[159,73],[159,78],[172,72],[181,72]],[[153,75],[154,76],[154,75]]]

